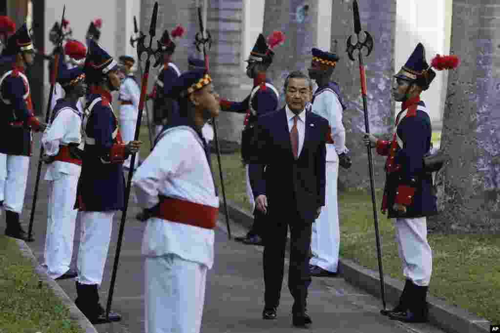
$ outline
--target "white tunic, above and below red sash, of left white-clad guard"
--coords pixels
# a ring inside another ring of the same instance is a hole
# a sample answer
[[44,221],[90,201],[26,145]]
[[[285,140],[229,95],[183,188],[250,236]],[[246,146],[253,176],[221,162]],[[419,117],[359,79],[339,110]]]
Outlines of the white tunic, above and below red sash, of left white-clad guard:
[[[41,143],[45,153],[55,156],[59,152],[59,145],[68,143],[81,144],[81,117],[77,110],[63,107],[59,110],[49,127],[43,132]],[[55,180],[58,173],[79,174],[80,165],[69,162],[53,161],[48,164],[45,180]]]

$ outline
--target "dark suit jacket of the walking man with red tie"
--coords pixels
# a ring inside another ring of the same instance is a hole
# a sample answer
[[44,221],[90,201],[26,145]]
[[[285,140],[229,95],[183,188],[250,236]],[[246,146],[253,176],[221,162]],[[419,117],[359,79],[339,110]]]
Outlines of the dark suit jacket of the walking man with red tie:
[[325,200],[328,121],[306,112],[304,142],[297,160],[291,150],[285,108],[258,118],[251,162],[262,166],[252,169],[249,177],[255,197],[265,194],[270,209],[296,207],[303,219],[312,222]]

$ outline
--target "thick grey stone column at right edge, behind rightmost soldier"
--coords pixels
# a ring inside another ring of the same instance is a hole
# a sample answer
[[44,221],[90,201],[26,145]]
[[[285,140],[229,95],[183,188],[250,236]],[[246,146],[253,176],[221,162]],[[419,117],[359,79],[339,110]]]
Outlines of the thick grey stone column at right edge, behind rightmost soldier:
[[[500,230],[500,4],[453,0],[451,53],[441,149],[450,160],[436,176],[438,208],[429,227]],[[437,73],[439,75],[439,73]]]

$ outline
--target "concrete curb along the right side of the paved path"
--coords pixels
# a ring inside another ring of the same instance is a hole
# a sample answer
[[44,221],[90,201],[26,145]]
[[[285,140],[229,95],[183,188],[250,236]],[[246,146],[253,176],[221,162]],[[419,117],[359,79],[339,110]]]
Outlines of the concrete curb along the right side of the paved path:
[[[220,201],[220,213],[224,214],[224,203]],[[227,211],[232,220],[246,228],[250,228],[253,217],[248,211],[236,206],[233,202],[227,202]],[[378,271],[362,267],[349,259],[340,257],[338,271],[349,283],[366,290],[370,294],[380,297],[380,278]],[[396,304],[402,292],[403,281],[384,275],[385,300]],[[429,307],[429,321],[448,333],[487,333],[490,322],[479,318],[464,309],[454,305],[448,305],[443,300],[427,296]]]

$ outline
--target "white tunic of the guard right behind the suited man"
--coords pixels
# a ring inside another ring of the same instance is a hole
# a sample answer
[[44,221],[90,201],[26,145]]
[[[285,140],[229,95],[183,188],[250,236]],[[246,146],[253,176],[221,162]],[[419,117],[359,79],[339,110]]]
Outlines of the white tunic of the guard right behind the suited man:
[[331,88],[316,90],[312,112],[328,120],[335,143],[326,144],[326,161],[337,160],[337,154],[348,151],[345,146],[345,128],[342,124],[342,105],[338,101],[337,94]]

